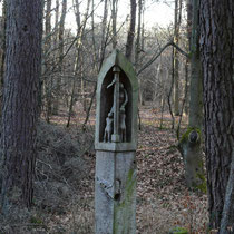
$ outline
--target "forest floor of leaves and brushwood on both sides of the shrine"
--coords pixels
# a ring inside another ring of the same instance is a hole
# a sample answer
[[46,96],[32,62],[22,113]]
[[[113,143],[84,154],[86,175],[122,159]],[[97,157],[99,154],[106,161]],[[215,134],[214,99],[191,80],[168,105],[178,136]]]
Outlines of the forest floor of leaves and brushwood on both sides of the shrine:
[[[68,129],[65,116],[41,121],[36,164],[35,205],[29,212],[12,208],[0,217],[0,234],[92,234],[95,150],[92,115],[86,133],[74,117]],[[176,148],[170,116],[146,106],[140,110],[137,149],[137,233],[164,234],[174,227],[206,233],[207,196],[186,188],[183,159]],[[16,192],[16,201],[19,194]],[[183,233],[183,232],[182,232]]]

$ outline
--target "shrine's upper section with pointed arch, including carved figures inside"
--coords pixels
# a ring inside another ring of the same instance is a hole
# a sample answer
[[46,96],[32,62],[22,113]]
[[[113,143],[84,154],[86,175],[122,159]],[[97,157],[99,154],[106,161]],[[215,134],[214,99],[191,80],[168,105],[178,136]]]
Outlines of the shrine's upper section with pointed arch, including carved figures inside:
[[106,59],[98,75],[96,149],[136,149],[137,103],[136,72],[128,59],[116,49]]

